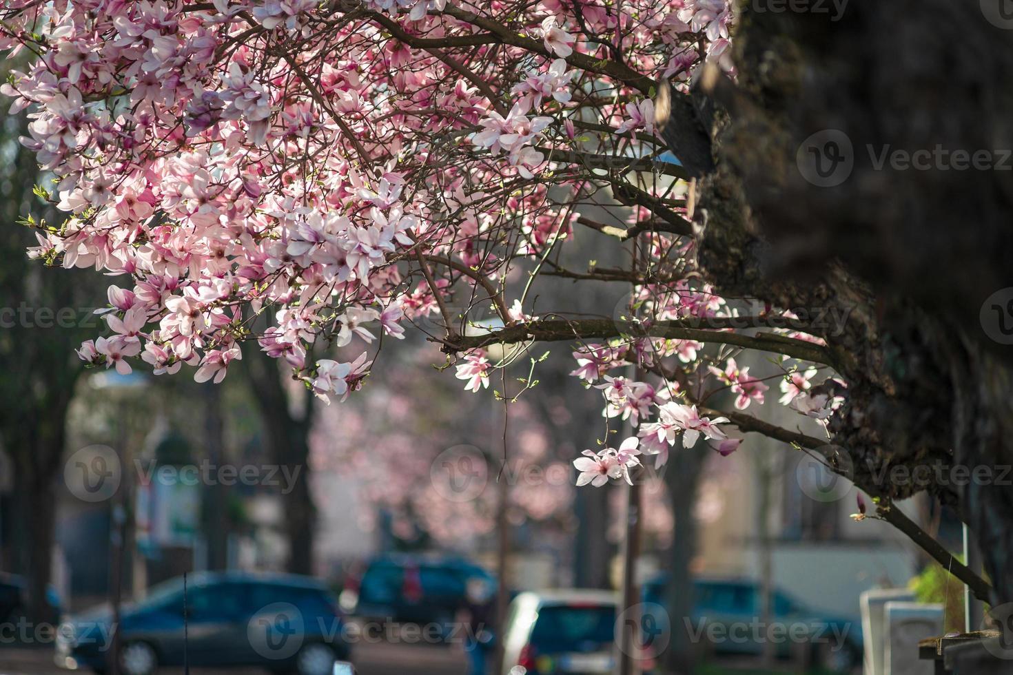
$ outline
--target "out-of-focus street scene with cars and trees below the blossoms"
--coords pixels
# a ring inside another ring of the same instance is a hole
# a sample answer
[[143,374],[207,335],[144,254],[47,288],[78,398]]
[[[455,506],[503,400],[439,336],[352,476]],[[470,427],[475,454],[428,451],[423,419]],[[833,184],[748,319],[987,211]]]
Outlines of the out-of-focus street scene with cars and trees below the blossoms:
[[[178,672],[184,602],[186,665],[204,670],[492,673],[497,650],[503,675],[616,668],[627,488],[574,488],[604,423],[567,349],[509,419],[417,333],[330,406],[256,349],[220,386],[85,370],[74,348],[115,278],[24,255],[14,223],[53,216],[23,124],[0,129],[0,672]],[[569,290],[539,302],[622,301]],[[876,589],[948,602],[962,626],[961,589],[889,525],[852,519],[854,489],[784,445],[674,453],[638,499],[637,672],[858,672]],[[907,507],[958,547],[950,514]]]

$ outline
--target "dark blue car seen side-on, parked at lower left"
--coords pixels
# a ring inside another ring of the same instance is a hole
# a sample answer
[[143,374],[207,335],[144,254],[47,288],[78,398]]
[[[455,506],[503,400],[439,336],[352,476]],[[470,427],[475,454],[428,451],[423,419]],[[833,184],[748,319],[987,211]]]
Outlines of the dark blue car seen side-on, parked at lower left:
[[[64,668],[107,670],[112,612],[106,605],[65,621],[56,662]],[[183,581],[153,587],[124,605],[120,672],[150,675],[181,666],[184,654]],[[190,666],[259,666],[279,673],[330,675],[335,660],[349,661],[337,604],[320,582],[296,575],[187,575],[185,653]]]

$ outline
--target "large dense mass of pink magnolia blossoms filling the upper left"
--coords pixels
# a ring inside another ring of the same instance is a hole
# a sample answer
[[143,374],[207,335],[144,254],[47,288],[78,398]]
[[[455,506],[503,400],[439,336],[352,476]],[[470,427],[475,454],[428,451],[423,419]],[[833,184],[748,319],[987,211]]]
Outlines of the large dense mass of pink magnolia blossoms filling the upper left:
[[[549,188],[596,178],[583,126],[655,143],[649,92],[596,64],[679,82],[732,19],[724,0],[11,0],[0,50],[38,56],[0,91],[67,216],[30,254],[113,277],[89,363],[221,382],[250,341],[343,398],[371,357],[315,352],[399,339],[568,241]],[[483,358],[458,366],[470,390]]]

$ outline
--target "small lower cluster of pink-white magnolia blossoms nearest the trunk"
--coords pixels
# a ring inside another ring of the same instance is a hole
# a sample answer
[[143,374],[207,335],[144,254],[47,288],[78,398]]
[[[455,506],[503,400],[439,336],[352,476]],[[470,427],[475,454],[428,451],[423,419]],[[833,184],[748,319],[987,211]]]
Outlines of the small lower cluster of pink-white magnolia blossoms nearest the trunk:
[[[635,307],[630,308],[630,313],[638,315],[636,321],[642,325],[735,315],[707,284],[693,287],[680,282],[664,289],[644,286],[633,293],[631,305]],[[799,338],[797,332],[785,332]],[[668,461],[670,450],[680,438],[686,449],[702,438],[722,456],[738,449],[743,439],[730,435],[734,427],[731,420],[702,413],[696,401],[727,391],[734,396],[734,408],[744,411],[751,404],[763,405],[770,387],[750,374],[751,366],[739,366],[734,355],[718,351],[716,357],[705,358],[705,347],[693,340],[626,338],[608,344],[585,344],[573,352],[577,367],[570,374],[602,392],[604,417],[621,419],[636,433],[618,448],[586,450],[576,458],[573,466],[579,471],[578,486],[603,486],[610,479],[632,483],[630,472],[640,466],[639,455],[653,455],[654,469],[658,469]],[[634,365],[661,376],[651,384],[609,374],[620,368],[629,371]],[[811,365],[801,369],[786,357],[781,357],[778,367],[772,378],[779,382],[782,392],[779,403],[826,426],[844,403],[844,398],[835,394],[844,383],[830,377],[822,385],[813,385],[819,369]]]

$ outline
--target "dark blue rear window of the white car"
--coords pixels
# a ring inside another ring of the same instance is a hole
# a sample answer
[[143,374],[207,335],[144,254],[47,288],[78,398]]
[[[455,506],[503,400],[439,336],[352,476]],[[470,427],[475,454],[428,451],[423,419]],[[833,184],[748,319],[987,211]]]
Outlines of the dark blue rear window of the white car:
[[615,629],[613,605],[550,605],[538,611],[531,646],[538,651],[585,652],[611,643]]

